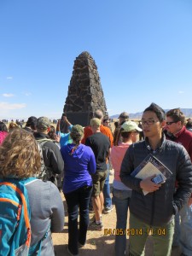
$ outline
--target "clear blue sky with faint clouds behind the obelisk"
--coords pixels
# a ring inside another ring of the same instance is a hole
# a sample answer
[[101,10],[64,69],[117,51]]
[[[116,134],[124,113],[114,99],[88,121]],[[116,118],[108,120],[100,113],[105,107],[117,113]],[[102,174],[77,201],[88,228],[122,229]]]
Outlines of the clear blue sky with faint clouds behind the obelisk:
[[84,50],[110,115],[192,108],[191,0],[1,0],[0,119],[59,118]]

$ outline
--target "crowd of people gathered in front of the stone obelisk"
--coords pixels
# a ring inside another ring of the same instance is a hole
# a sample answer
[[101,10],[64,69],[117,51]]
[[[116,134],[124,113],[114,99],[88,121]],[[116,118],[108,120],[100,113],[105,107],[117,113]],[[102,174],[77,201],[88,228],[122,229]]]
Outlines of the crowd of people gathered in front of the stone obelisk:
[[[186,120],[179,108],[165,113],[155,103],[143,111],[138,123],[126,112],[118,119],[114,131],[101,110],[86,127],[71,124],[65,113],[56,128],[47,117],[31,116],[25,127],[0,122],[1,180],[36,177],[26,189],[32,245],[46,234],[41,255],[55,255],[51,232],[61,232],[64,226],[61,190],[67,202],[69,255],[79,255],[88,229],[103,230],[102,214],[114,207],[119,230],[116,256],[128,253],[126,235],[129,255],[143,255],[149,235],[156,256],[171,255],[172,247],[192,255],[191,119]],[[149,154],[171,173],[161,183],[154,182],[151,172],[143,178],[131,175]],[[112,194],[109,163],[114,171]],[[91,221],[90,212],[94,212]]]

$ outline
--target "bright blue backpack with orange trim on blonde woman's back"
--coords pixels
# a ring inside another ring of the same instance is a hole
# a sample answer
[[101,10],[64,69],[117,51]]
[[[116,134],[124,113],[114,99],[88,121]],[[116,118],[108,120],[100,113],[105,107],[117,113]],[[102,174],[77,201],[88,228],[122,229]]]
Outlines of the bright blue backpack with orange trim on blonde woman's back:
[[41,253],[41,241],[30,247],[31,211],[25,184],[34,179],[0,179],[0,255],[26,256],[36,251],[38,255]]

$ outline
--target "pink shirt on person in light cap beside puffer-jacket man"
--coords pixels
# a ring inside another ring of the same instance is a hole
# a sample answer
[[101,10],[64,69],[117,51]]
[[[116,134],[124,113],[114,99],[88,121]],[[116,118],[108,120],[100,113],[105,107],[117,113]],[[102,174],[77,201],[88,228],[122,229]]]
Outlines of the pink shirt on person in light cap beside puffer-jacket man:
[[130,145],[131,144],[119,143],[119,146],[113,146],[113,148],[111,149],[110,158],[114,169],[114,180],[121,181],[119,177],[120,166],[124,158],[125,152]]

